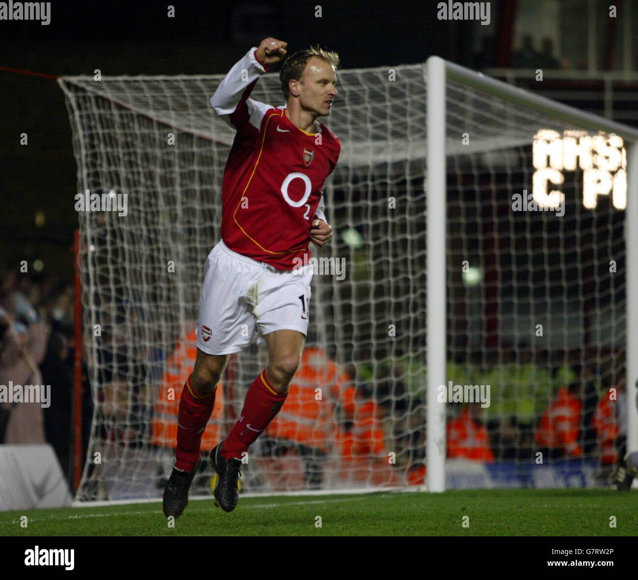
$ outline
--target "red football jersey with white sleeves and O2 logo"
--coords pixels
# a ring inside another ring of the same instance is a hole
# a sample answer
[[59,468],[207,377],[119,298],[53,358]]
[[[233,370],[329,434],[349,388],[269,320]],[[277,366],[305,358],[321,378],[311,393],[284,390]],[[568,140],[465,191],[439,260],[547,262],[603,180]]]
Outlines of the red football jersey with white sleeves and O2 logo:
[[[221,239],[253,260],[292,270],[308,253],[313,219],[325,219],[322,188],[341,142],[319,121],[316,133],[306,133],[288,119],[285,107],[249,98],[266,70],[254,50],[235,64],[211,99],[237,130],[222,183]],[[246,70],[248,81],[239,80]]]

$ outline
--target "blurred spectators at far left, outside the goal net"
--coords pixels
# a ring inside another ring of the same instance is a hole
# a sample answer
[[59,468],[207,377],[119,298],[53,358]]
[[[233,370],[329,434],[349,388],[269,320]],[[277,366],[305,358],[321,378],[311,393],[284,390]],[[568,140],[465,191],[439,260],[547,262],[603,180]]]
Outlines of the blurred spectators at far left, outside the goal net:
[[68,476],[73,390],[73,285],[0,271],[0,385],[50,385],[50,403],[0,403],[0,443],[50,443]]

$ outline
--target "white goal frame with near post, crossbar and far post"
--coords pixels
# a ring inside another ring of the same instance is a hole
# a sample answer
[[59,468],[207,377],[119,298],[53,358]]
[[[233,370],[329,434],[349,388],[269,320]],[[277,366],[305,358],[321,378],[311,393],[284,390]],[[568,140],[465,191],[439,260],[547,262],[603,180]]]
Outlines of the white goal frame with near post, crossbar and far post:
[[[610,119],[591,115],[547,98],[537,96],[529,91],[486,77],[454,63],[444,61],[440,57],[430,57],[427,70],[427,336],[447,337],[447,269],[445,263],[446,223],[447,223],[447,165],[446,156],[458,153],[459,143],[463,142],[462,134],[467,135],[470,144],[471,130],[468,124],[463,128],[450,127],[446,123],[450,119],[446,108],[447,87],[449,83],[466,84],[477,91],[493,97],[516,103],[521,110],[525,108],[538,112],[548,119],[547,127],[578,127],[586,131],[604,131],[619,136],[627,142],[627,192],[625,195],[625,228],[627,282],[626,288],[626,373],[627,373],[627,405],[624,410],[627,417],[627,452],[638,452],[638,359],[632,353],[638,352],[638,301],[632,298],[631,288],[638,283],[638,131],[634,128],[615,123]],[[498,112],[508,113],[507,107],[498,107]],[[540,116],[539,115],[539,116]],[[551,122],[549,122],[551,119]],[[528,117],[528,121],[531,119]],[[455,121],[459,121],[458,117]],[[530,123],[531,124],[531,123]],[[457,133],[455,134],[455,129]],[[531,134],[530,134],[531,136]],[[478,140],[483,136],[480,131],[475,135]],[[524,142],[524,140],[523,140]],[[450,146],[450,144],[452,144]],[[495,148],[500,145],[495,144]],[[560,148],[559,148],[560,149]],[[451,151],[450,151],[451,150]],[[554,154],[552,152],[550,156]],[[565,150],[558,151],[558,157]],[[561,167],[559,167],[561,168]],[[601,169],[604,171],[604,167]],[[598,179],[598,177],[597,177]],[[603,181],[602,178],[600,181]],[[598,192],[597,192],[598,193]],[[609,191],[600,191],[607,193]],[[621,196],[622,197],[622,196]],[[450,265],[447,264],[449,268]],[[437,399],[440,385],[445,385],[445,342],[429,340],[427,351],[427,368],[435,370],[427,380],[427,487],[429,491],[445,490],[445,403]],[[619,417],[619,420],[622,420]]]

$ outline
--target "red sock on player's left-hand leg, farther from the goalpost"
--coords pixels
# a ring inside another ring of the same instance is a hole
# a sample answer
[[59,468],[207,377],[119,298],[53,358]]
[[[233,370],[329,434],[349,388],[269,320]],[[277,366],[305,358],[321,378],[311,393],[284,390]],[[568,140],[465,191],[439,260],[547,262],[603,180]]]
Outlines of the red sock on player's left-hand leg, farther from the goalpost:
[[204,396],[195,394],[190,375],[184,383],[179,399],[177,415],[177,449],[175,449],[175,467],[192,472],[200,461],[200,445],[206,424],[215,405],[215,392]]

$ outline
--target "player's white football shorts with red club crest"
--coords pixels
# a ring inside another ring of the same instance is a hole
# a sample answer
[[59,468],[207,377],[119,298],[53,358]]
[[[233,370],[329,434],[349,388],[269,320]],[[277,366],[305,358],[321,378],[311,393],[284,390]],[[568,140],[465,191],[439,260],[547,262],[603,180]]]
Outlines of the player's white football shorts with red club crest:
[[207,354],[239,352],[274,331],[308,332],[313,267],[293,272],[257,262],[219,242],[204,267],[197,348]]

